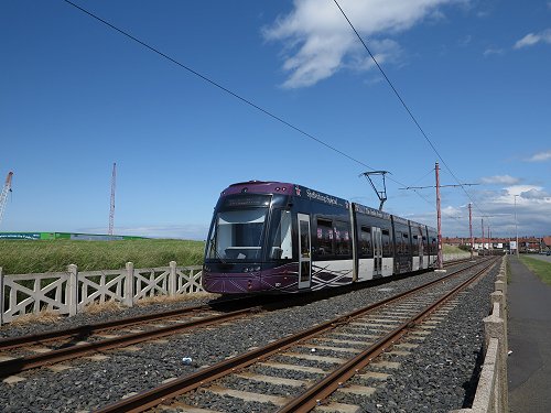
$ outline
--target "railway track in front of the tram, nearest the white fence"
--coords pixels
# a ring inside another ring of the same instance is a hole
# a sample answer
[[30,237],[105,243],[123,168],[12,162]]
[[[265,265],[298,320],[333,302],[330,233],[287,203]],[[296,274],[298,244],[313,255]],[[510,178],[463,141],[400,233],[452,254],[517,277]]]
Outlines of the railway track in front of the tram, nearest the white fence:
[[[255,303],[252,306],[250,303]],[[237,306],[236,311],[228,311]],[[65,330],[0,340],[0,377],[212,326],[260,312],[256,300],[227,300]],[[84,340],[87,341],[84,341]],[[47,344],[47,347],[46,347]]]

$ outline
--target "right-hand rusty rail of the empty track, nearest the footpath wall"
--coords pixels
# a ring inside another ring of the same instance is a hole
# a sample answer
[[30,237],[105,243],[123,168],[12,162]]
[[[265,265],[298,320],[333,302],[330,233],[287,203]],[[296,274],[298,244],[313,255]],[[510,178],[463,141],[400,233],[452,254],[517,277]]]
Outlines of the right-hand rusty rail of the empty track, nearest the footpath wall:
[[316,382],[314,385],[309,388],[305,392],[303,392],[298,398],[293,399],[291,402],[282,406],[278,410],[278,413],[289,413],[289,412],[310,412],[316,405],[321,404],[320,401],[328,398],[333,392],[338,390],[338,388],[354,377],[360,369],[365,368],[369,362],[382,354],[388,347],[392,346],[397,340],[399,340],[403,335],[409,333],[409,330],[422,323],[430,314],[432,314],[436,308],[439,308],[443,303],[451,300],[453,296],[463,291],[471,283],[476,281],[483,274],[485,274],[491,267],[495,265],[495,262],[490,262],[488,265],[483,268],[472,278],[467,279],[456,287],[454,287],[449,293],[441,296],[433,304],[428,306],[422,312],[415,314],[410,319],[403,322],[400,326],[379,338],[371,346],[369,346],[366,350],[358,354],[356,357],[352,358],[347,362],[341,365],[336,370],[334,370],[331,374],[326,376],[323,380]]

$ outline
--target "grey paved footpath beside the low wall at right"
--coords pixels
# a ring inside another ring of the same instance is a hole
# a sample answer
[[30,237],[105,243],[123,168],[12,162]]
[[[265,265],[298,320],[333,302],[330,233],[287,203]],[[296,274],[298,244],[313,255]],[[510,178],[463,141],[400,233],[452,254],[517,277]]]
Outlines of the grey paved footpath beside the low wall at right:
[[508,380],[514,413],[551,412],[551,285],[509,256]]

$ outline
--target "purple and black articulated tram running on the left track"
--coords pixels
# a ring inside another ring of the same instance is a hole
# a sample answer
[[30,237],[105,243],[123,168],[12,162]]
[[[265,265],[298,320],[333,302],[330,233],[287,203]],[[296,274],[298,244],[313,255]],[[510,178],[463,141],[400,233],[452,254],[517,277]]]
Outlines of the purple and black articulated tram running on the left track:
[[214,210],[202,283],[296,293],[433,268],[436,230],[300,185],[250,181]]

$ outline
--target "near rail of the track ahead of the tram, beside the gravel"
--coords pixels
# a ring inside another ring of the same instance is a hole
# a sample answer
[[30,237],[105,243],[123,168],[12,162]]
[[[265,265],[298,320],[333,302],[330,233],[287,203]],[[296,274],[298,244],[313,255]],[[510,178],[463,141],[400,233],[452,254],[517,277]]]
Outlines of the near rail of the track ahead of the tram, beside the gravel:
[[96,343],[75,345],[72,347],[52,350],[44,354],[14,358],[11,360],[0,362],[0,377],[14,374],[24,370],[34,369],[54,362],[69,360],[93,352],[105,351],[117,347],[126,347],[134,345],[145,340],[172,335],[174,333],[188,328],[196,328],[196,327],[208,326],[212,324],[228,322],[230,319],[240,318],[248,314],[256,313],[259,311],[260,307],[239,309],[231,313],[195,319],[185,324],[175,324],[172,326],[161,327],[149,332],[128,334],[120,337],[107,338]]

